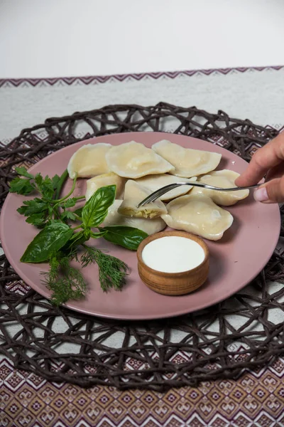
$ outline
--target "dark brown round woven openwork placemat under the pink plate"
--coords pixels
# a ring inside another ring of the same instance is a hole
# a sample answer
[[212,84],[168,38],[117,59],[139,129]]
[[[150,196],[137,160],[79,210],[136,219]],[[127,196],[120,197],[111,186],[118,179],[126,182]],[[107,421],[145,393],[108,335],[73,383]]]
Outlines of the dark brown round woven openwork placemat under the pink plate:
[[[168,131],[207,139],[249,160],[277,131],[219,111],[160,102],[109,105],[51,118],[0,147],[0,200],[13,167],[31,166],[74,142],[130,131]],[[281,236],[284,236],[283,229]],[[168,320],[119,322],[55,308],[28,288],[1,256],[0,352],[16,368],[81,386],[164,389],[236,378],[283,352],[283,255],[275,251],[258,277],[225,302]],[[276,315],[275,315],[276,313]]]

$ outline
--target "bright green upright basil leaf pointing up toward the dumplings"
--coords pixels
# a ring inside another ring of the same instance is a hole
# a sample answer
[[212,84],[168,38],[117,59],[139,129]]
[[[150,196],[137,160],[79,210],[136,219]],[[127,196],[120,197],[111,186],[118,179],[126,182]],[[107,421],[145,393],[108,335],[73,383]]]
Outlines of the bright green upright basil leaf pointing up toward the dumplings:
[[104,221],[109,206],[114,203],[115,193],[115,185],[104,186],[94,192],[82,209],[85,227],[97,227]]

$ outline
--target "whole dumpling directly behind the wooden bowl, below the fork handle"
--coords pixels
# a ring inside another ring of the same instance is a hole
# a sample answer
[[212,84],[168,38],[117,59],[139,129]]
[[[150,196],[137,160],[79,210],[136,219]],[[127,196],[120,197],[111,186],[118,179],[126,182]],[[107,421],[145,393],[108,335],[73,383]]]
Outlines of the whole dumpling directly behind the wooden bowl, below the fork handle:
[[233,222],[233,216],[220,208],[207,196],[188,194],[170,201],[165,223],[176,230],[188,231],[217,241]]

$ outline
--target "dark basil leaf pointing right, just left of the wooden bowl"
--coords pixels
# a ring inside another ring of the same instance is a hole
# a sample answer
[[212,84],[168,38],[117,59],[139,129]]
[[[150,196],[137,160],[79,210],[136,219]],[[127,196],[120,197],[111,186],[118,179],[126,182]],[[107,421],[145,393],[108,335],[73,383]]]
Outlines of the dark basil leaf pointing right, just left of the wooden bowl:
[[129,226],[99,227],[99,231],[107,231],[103,238],[115,245],[136,251],[141,241],[148,236],[145,231]]

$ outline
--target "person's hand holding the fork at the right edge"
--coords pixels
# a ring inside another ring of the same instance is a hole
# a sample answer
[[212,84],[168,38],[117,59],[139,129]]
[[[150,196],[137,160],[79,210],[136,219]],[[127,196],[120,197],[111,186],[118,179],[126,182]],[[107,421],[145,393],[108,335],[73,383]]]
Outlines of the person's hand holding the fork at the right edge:
[[[267,174],[267,175],[266,175]],[[266,175],[266,182],[254,193],[263,203],[284,201],[284,132],[253,154],[249,167],[236,179],[237,186],[258,183]]]

